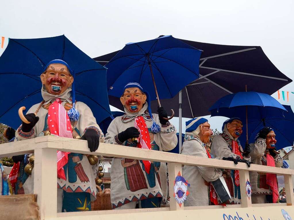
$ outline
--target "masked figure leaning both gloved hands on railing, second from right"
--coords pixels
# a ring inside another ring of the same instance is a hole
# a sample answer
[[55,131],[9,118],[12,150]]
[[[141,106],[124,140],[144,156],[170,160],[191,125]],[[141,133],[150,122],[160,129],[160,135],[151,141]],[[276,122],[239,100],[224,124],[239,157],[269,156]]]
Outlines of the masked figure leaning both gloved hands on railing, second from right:
[[[225,157],[223,160],[246,163],[250,167],[250,146],[246,145],[244,151],[238,138],[242,134],[242,121],[231,118],[223,123],[223,133],[215,136],[211,144],[211,154],[216,157]],[[241,153],[243,152],[243,153]],[[231,194],[230,204],[241,204],[240,179],[238,170],[223,171],[223,177]]]

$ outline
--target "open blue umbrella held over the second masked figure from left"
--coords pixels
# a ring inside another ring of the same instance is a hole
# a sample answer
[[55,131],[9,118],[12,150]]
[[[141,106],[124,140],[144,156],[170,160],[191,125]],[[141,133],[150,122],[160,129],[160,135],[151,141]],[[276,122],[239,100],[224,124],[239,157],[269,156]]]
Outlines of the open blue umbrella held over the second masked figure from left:
[[121,97],[128,82],[138,82],[161,106],[158,94],[172,98],[199,78],[200,55],[201,50],[171,35],[128,43],[106,64],[108,95]]

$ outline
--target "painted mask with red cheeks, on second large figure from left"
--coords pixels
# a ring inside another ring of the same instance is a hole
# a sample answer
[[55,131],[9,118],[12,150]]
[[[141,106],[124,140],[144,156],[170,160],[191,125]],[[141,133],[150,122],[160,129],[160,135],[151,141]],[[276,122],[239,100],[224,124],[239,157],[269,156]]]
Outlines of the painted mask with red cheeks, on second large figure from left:
[[147,96],[137,87],[127,88],[121,96],[121,104],[129,112],[139,112],[146,102]]

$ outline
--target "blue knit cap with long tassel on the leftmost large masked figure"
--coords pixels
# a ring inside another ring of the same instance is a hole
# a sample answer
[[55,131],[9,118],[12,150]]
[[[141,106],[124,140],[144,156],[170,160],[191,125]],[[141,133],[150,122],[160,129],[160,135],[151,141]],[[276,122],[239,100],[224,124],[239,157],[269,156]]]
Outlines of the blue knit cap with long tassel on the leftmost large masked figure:
[[[63,61],[63,60],[59,60],[59,59],[56,59],[56,60],[51,60],[45,67],[44,71],[46,71],[46,69],[48,68],[48,66],[50,64],[53,64],[53,63],[59,63],[59,64],[63,64],[67,67],[67,69],[69,70],[70,74],[75,78],[75,74],[74,74],[74,71],[69,67],[69,65]],[[76,102],[76,92],[75,92],[75,81],[72,83],[71,85],[71,97],[72,97],[72,102],[73,102],[73,107],[71,109],[69,109],[69,111],[67,112],[68,116],[69,116],[69,119],[71,121],[78,121],[79,117],[80,117],[80,114],[78,112],[78,110],[75,109],[75,102]]]

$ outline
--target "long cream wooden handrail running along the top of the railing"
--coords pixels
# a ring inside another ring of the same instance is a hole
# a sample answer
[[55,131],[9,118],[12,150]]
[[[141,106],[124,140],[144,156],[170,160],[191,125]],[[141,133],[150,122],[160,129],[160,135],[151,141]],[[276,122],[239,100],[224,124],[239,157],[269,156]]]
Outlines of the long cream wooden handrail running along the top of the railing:
[[[78,149],[76,147],[78,143]],[[56,136],[43,136],[28,140],[4,143],[0,145],[0,158],[5,156],[33,153],[35,149],[51,148],[72,153],[102,155],[117,158],[129,158],[138,160],[151,160],[167,163],[180,163],[183,165],[216,167],[233,170],[248,170],[253,172],[275,173],[280,175],[294,175],[294,170],[278,167],[251,164],[247,167],[245,163],[235,165],[231,161],[201,158],[189,155],[168,153],[156,150],[145,150],[127,146],[100,143],[96,152],[90,152],[87,141],[72,138],[61,138]]]

